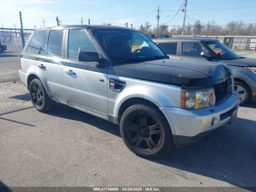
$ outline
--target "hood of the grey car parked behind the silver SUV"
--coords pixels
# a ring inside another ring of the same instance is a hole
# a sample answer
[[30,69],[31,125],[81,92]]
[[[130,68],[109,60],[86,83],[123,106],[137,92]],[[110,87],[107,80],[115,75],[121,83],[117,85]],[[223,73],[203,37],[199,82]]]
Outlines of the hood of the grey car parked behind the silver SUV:
[[241,57],[240,59],[232,59],[232,60],[220,60],[221,63],[226,65],[234,65],[234,66],[241,66],[241,67],[256,67],[256,59],[248,58],[248,57]]

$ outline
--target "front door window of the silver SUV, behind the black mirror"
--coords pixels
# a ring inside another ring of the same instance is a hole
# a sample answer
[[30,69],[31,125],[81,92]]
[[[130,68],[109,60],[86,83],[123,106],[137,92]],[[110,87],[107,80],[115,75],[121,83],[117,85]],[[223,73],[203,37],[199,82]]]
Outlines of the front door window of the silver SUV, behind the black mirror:
[[68,34],[68,58],[78,59],[80,50],[96,52],[94,44],[84,30],[70,30]]

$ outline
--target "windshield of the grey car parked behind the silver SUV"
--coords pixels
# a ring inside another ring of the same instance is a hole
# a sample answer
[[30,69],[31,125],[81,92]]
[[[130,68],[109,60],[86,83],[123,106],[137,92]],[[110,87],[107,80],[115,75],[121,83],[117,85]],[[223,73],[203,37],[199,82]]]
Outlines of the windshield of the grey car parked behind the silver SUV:
[[229,59],[240,58],[240,56],[235,54],[232,50],[230,50],[228,47],[226,47],[224,44],[222,44],[219,41],[208,41],[205,43],[213,50],[213,52],[220,59],[229,60]]

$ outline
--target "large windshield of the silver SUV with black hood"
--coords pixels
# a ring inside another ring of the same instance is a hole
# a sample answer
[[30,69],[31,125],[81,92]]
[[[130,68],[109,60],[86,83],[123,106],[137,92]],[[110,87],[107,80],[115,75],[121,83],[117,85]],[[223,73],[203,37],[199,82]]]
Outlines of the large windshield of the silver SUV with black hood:
[[141,32],[133,30],[94,30],[96,38],[114,62],[168,58]]

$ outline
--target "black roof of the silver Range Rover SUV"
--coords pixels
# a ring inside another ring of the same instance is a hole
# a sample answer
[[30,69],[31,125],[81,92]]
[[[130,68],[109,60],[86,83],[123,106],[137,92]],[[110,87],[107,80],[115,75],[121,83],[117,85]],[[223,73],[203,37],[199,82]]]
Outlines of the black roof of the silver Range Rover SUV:
[[62,26],[54,26],[54,27],[48,27],[43,29],[38,29],[36,31],[45,31],[48,29],[64,29],[64,28],[76,28],[76,27],[82,27],[82,28],[92,28],[92,29],[116,29],[116,30],[134,30],[127,27],[120,27],[120,26],[113,26],[113,25],[62,25]]

